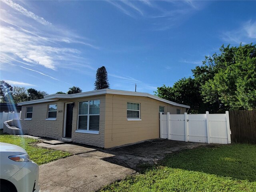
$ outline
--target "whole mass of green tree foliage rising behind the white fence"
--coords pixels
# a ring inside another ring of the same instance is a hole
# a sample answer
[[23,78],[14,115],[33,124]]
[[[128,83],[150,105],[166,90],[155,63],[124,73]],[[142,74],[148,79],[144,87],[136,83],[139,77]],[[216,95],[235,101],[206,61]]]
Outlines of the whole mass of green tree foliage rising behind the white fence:
[[190,105],[192,113],[256,109],[256,45],[222,45],[219,54],[206,56],[192,73],[194,78],[158,87],[155,94]]

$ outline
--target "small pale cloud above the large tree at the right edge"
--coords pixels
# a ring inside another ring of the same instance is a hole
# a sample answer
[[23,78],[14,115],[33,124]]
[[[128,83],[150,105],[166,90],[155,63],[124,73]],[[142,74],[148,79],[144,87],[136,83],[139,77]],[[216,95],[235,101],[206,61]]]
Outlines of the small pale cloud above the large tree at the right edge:
[[247,44],[256,40],[256,21],[249,20],[244,22],[239,28],[225,31],[220,38],[230,44]]

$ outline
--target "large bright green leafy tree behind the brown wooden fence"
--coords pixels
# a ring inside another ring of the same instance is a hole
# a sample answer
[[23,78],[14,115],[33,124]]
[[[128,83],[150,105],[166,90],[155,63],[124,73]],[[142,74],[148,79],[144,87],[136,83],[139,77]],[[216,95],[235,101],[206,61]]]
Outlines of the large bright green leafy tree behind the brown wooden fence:
[[216,74],[202,85],[204,100],[218,99],[233,110],[255,110],[256,45],[222,46],[214,64]]

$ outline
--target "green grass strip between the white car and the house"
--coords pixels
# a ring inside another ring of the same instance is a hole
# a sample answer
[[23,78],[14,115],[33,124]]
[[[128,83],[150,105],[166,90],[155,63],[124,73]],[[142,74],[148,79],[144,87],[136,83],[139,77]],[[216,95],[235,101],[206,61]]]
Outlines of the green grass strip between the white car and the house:
[[40,141],[28,137],[0,134],[0,142],[14,144],[24,148],[28,152],[30,159],[38,165],[71,155],[68,152],[38,147],[36,143]]

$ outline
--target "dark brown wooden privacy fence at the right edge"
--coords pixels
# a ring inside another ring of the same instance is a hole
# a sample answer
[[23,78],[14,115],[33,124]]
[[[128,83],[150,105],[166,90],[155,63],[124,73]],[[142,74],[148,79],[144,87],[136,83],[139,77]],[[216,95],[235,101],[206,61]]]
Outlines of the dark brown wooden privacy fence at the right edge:
[[256,110],[230,111],[232,142],[256,144]]

